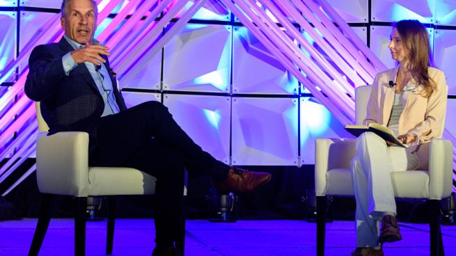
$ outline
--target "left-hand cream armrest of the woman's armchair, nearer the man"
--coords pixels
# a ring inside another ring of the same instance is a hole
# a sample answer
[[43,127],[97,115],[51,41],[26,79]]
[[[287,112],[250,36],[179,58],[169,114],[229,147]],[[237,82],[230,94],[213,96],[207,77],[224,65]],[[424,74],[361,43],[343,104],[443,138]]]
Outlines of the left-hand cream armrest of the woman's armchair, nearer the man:
[[334,168],[349,168],[356,140],[317,138],[315,141],[315,194],[326,195],[326,175]]

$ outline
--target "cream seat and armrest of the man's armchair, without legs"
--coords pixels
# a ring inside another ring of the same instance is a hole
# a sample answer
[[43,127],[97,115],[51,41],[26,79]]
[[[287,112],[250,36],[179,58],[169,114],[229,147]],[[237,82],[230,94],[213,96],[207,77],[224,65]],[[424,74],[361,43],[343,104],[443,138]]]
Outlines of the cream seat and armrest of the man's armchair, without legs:
[[134,168],[89,167],[88,134],[38,136],[37,181],[42,193],[58,195],[143,195],[155,192],[152,175]]

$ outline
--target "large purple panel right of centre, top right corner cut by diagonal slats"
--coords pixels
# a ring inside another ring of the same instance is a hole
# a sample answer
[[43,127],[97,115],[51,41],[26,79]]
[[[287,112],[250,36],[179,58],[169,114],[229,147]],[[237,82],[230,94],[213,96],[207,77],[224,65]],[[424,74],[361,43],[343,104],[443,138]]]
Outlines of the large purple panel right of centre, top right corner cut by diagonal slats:
[[244,26],[233,33],[233,93],[297,94],[298,81]]

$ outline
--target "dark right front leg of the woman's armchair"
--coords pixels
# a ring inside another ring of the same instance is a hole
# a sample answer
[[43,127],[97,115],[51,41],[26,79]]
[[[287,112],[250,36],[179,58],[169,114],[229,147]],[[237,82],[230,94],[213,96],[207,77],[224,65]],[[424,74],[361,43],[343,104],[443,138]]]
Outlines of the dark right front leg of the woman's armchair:
[[430,235],[431,235],[431,255],[443,256],[443,240],[441,232],[441,211],[439,200],[429,200],[430,204]]

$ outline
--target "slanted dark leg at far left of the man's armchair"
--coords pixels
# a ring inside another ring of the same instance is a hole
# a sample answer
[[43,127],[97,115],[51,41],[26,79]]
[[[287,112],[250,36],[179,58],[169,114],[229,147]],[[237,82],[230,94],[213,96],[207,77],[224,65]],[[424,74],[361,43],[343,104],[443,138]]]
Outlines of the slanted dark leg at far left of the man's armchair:
[[47,232],[47,227],[49,227],[49,221],[51,217],[49,215],[49,208],[52,195],[50,194],[41,194],[41,207],[40,207],[40,216],[38,218],[38,223],[36,224],[35,234],[33,234],[33,240],[29,249],[29,256],[37,256],[40,253],[40,248],[42,246],[42,241],[45,239]]

